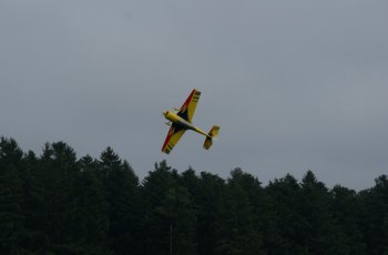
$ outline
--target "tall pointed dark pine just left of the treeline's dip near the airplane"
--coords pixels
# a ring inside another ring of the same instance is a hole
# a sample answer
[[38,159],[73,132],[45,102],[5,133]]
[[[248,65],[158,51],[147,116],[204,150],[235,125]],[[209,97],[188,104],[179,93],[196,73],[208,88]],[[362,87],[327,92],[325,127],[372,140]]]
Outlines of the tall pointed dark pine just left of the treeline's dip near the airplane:
[[114,254],[139,254],[139,180],[130,164],[111,147],[100,156],[100,173],[106,191],[110,248]]

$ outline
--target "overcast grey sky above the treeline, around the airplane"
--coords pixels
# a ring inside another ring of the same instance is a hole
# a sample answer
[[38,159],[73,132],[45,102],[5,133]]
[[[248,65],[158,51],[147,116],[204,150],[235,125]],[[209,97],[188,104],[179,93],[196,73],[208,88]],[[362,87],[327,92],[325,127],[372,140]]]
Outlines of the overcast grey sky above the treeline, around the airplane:
[[[112,146],[140,177],[166,159],[266,184],[310,169],[329,187],[388,173],[388,3],[0,1],[0,135],[79,157]],[[162,111],[202,91],[170,155]]]

